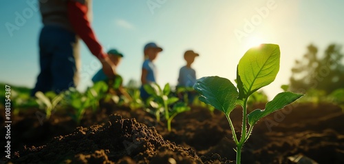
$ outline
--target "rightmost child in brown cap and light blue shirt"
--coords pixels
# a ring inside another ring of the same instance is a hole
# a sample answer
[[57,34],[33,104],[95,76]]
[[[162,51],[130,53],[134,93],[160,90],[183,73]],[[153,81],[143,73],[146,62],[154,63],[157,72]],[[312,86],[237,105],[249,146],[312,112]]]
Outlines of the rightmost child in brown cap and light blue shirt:
[[[193,50],[187,50],[184,53],[184,59],[186,65],[180,68],[179,77],[178,77],[178,87],[182,88],[192,88],[196,81],[196,72],[191,68],[191,64],[195,61],[195,57],[199,57],[200,54],[193,52]],[[189,103],[193,102],[196,93],[194,91],[187,92]]]

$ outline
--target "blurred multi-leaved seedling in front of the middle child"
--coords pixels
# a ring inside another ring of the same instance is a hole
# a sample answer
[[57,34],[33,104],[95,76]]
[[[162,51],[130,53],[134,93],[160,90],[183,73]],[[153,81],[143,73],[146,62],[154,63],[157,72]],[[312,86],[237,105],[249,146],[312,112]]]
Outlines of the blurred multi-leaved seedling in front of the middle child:
[[166,83],[162,90],[157,83],[150,83],[144,85],[144,90],[151,94],[147,102],[155,108],[155,116],[157,121],[160,121],[161,109],[164,110],[165,119],[169,120],[169,105],[177,102],[179,99],[175,96],[169,96],[171,88],[169,83]]

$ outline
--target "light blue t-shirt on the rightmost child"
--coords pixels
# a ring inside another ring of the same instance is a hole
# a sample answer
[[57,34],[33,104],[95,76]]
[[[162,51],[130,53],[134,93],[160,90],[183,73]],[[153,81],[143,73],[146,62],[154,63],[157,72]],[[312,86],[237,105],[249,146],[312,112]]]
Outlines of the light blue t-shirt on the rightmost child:
[[178,86],[193,87],[196,81],[196,71],[186,66],[180,68]]

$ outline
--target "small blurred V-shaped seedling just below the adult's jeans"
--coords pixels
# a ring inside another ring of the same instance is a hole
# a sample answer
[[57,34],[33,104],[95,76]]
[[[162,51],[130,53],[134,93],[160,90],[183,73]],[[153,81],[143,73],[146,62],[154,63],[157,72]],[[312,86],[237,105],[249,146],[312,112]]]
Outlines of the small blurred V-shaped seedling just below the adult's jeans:
[[34,96],[37,97],[38,101],[42,102],[45,105],[45,118],[49,119],[52,115],[52,110],[55,109],[56,105],[63,99],[64,94],[56,95],[54,92],[36,92]]

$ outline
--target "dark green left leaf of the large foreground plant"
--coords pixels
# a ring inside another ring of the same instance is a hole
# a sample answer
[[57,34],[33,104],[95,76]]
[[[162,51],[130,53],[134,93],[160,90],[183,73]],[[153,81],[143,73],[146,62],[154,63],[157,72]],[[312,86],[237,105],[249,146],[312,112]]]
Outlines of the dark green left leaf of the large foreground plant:
[[228,79],[219,76],[202,77],[193,88],[200,93],[200,101],[213,105],[225,114],[232,112],[235,107],[238,92]]

